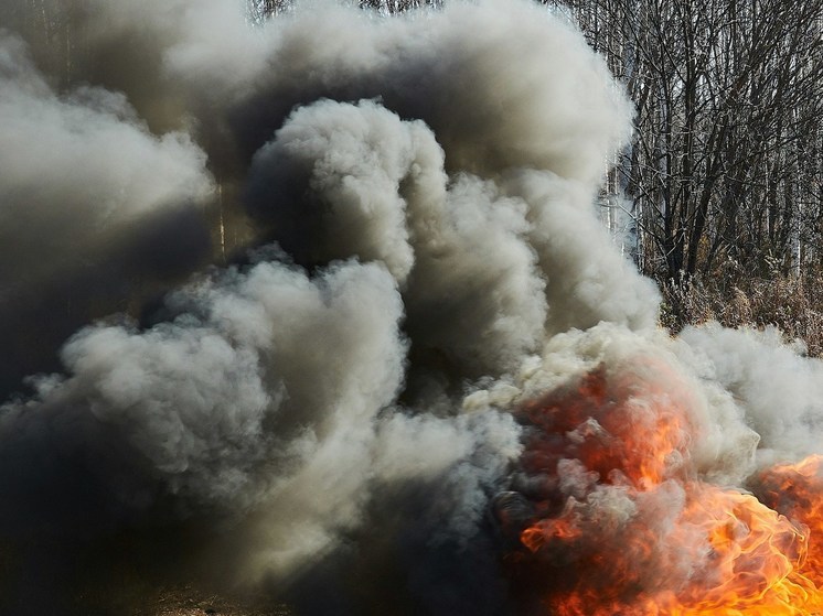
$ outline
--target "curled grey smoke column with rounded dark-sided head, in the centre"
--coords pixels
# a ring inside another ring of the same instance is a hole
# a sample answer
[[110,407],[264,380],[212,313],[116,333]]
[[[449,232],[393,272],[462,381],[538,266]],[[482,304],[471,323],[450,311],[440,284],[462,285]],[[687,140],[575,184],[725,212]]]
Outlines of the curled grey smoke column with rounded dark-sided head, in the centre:
[[416,345],[472,376],[500,374],[536,346],[546,314],[527,206],[474,175],[449,183],[442,165],[421,122],[324,101],[296,111],[255,156],[249,203],[300,262],[385,263]]

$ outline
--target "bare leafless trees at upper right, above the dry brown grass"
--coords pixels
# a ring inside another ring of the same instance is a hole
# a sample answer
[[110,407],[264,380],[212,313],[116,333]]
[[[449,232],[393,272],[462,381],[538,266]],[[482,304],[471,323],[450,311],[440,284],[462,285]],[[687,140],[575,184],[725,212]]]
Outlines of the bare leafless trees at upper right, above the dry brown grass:
[[637,108],[609,207],[649,274],[823,262],[823,1],[571,0]]

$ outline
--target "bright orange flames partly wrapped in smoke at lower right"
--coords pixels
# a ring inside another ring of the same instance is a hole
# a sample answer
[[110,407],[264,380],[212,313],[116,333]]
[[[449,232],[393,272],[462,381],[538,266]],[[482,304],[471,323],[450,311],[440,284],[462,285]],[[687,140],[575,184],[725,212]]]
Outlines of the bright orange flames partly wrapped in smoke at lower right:
[[701,480],[690,393],[666,371],[599,368],[520,410],[533,515],[515,585],[556,616],[823,614],[823,457],[763,473],[758,497]]

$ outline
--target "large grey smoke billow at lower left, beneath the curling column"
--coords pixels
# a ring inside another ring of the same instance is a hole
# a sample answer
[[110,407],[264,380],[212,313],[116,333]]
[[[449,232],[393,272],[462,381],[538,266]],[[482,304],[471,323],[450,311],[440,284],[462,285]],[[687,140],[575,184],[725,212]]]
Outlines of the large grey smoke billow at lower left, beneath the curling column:
[[245,574],[287,576],[359,531],[384,490],[443,480],[426,523],[445,525],[442,541],[478,532],[517,431],[499,413],[389,412],[406,342],[383,268],[344,263],[310,280],[259,263],[169,304],[181,314],[150,329],[81,331],[62,352],[66,377],[3,407],[12,536],[245,519]]

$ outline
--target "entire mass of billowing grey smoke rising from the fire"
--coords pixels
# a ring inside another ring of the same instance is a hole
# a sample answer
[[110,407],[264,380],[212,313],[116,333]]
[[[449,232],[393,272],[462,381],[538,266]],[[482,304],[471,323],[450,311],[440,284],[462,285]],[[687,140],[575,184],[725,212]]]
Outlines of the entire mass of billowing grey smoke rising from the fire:
[[788,577],[809,522],[745,488],[778,507],[762,469],[820,450],[823,368],[656,328],[592,205],[630,105],[571,26],[87,0],[67,62],[26,9],[0,37],[6,612],[85,613],[124,547],[300,615],[697,614],[766,543],[814,586]]

